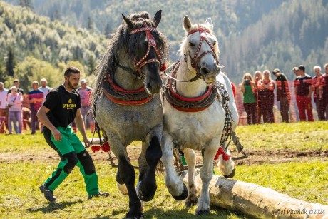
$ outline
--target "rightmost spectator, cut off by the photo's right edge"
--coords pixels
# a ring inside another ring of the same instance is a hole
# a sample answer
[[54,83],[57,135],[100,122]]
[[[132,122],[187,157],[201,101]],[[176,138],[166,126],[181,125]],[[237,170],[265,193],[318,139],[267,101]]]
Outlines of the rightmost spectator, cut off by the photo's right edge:
[[[324,72],[325,74],[321,77],[319,91],[322,93],[319,104],[319,120],[328,120],[328,63],[324,65]],[[324,113],[326,113],[326,115],[324,115]]]

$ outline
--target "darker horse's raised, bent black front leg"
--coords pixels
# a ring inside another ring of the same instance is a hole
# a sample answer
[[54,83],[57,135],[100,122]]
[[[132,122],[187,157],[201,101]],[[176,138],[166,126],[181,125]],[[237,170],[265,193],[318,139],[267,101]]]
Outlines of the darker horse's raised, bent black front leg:
[[143,143],[139,157],[139,180],[137,185],[140,200],[150,201],[157,190],[155,172],[158,161],[162,157],[160,136],[151,136],[150,143]]

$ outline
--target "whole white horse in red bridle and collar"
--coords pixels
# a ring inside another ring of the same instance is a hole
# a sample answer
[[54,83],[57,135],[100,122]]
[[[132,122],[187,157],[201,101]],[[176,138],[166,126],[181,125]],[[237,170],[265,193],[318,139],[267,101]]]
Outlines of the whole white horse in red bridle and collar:
[[[183,28],[186,37],[180,47],[181,59],[170,73],[176,80],[168,79],[163,97],[161,160],[165,165],[165,184],[170,194],[176,200],[187,198],[187,206],[198,202],[196,215],[201,215],[210,213],[208,190],[213,174],[213,159],[220,145],[220,151],[224,153],[220,155],[218,163],[221,172],[226,177],[232,177],[235,173],[234,163],[224,151],[228,139],[226,135],[222,136],[222,133],[235,130],[238,114],[231,83],[227,76],[220,72],[220,52],[217,39],[212,34],[212,22],[207,19],[205,24],[193,25],[188,16],[185,16]],[[223,87],[225,89],[222,89]],[[223,91],[230,100],[222,97],[219,91]],[[231,114],[225,113],[227,108],[230,108]],[[226,115],[231,116],[225,121]],[[221,138],[224,138],[222,143]],[[188,189],[173,168],[173,148],[180,148],[185,154],[189,175]],[[203,167],[200,170],[203,187],[199,199],[195,184],[193,150],[204,151]]]

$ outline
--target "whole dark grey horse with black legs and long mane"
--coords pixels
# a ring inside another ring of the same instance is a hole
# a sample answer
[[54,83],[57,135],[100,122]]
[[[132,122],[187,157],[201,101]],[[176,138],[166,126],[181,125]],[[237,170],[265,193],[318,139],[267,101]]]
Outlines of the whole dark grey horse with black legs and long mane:
[[[155,169],[162,151],[163,109],[160,96],[160,69],[168,57],[168,43],[156,28],[161,11],[153,20],[147,12],[125,17],[111,36],[106,54],[99,63],[93,93],[93,113],[118,158],[118,189],[129,195],[127,218],[143,218],[140,200],[152,200],[157,189]],[[162,69],[163,70],[163,69]],[[126,147],[142,141],[139,179]]]

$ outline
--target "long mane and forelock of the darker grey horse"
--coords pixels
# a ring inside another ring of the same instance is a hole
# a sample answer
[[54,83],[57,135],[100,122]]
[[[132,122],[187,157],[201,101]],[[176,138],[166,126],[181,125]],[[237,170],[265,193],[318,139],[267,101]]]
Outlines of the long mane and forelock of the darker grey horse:
[[[144,22],[148,26],[156,27],[158,25],[155,23],[155,21],[150,19],[150,15],[146,11],[130,14],[128,16],[128,19],[131,19],[133,21],[133,29],[138,29],[140,27],[143,27]],[[99,62],[95,71],[96,82],[93,86],[91,106],[94,106],[96,104],[98,96],[100,96],[102,91],[101,84],[107,78],[108,73],[111,74],[115,73],[117,68],[116,62],[118,61],[119,51],[125,50],[127,57],[130,59],[132,63],[132,58],[135,57],[136,54],[135,45],[137,44],[138,40],[141,37],[144,38],[145,33],[140,32],[130,35],[130,31],[131,31],[130,28],[123,20],[121,25],[118,26],[118,29],[116,29],[116,32],[111,34],[106,52],[103,55],[103,58],[101,58],[101,61]],[[160,55],[165,60],[167,60],[168,41],[165,35],[162,34],[160,31],[153,31],[152,34],[155,39],[158,39],[160,41],[160,44],[158,44],[158,51],[160,52]]]

